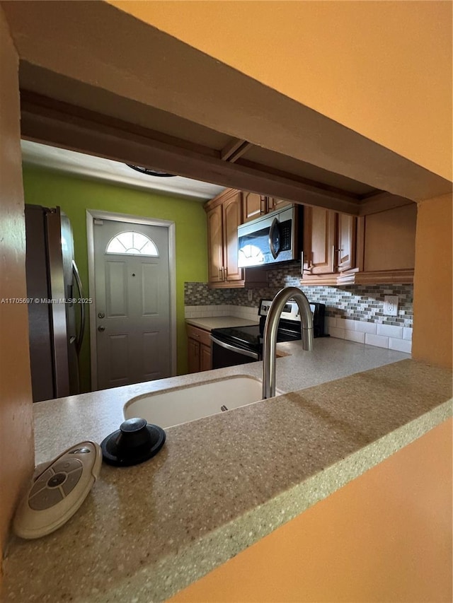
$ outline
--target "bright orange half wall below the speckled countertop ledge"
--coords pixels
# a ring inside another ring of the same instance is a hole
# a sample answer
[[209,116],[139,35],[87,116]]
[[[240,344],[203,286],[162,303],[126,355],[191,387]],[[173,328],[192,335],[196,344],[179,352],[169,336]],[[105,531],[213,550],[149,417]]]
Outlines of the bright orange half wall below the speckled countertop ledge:
[[452,420],[168,599],[452,601]]

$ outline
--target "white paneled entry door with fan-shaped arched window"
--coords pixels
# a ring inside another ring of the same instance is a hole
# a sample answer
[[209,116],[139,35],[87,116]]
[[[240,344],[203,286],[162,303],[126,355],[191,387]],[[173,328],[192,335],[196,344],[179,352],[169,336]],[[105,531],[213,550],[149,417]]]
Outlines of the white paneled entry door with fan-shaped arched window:
[[171,375],[168,228],[93,226],[98,389]]

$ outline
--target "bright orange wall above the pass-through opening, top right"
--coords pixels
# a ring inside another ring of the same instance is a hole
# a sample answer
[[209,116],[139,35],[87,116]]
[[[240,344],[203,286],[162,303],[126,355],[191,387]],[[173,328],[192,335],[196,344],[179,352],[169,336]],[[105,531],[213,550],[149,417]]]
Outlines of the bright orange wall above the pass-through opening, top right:
[[451,180],[451,2],[110,4]]

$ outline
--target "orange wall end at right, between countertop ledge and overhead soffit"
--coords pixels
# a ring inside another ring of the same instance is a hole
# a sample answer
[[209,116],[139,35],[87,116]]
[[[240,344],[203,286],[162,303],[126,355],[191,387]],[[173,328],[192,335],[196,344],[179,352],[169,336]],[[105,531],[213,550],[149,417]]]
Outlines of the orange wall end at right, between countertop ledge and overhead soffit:
[[418,204],[413,358],[452,366],[452,196]]

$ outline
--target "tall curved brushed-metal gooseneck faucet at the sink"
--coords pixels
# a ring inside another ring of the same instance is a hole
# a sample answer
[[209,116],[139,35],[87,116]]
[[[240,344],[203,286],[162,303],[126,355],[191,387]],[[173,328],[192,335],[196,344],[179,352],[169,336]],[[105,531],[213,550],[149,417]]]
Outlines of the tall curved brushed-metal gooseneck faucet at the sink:
[[264,325],[263,344],[263,399],[275,396],[275,356],[277,352],[277,329],[285,303],[294,299],[299,306],[301,321],[302,348],[313,350],[313,315],[309,300],[297,287],[285,287],[279,291],[270,305]]

